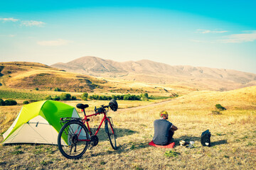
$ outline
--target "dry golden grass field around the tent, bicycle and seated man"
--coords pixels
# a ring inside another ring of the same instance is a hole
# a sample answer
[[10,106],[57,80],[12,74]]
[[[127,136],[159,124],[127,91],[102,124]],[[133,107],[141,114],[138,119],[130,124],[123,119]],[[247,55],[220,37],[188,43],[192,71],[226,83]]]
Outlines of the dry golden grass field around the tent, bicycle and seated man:
[[[68,101],[71,106],[81,101]],[[94,106],[107,101],[87,101]],[[118,101],[110,111],[118,132],[117,151],[100,132],[99,145],[81,159],[65,159],[55,145],[1,145],[0,169],[255,169],[256,165],[256,86],[235,91],[192,91],[171,101]],[[227,108],[212,114],[215,104]],[[136,106],[140,106],[136,108]],[[14,121],[21,106],[0,108],[0,132]],[[178,127],[174,149],[150,147],[153,121],[161,110]],[[100,116],[90,123],[97,124]],[[202,147],[201,132],[210,130],[212,147]],[[1,135],[0,141],[3,140]],[[195,141],[194,148],[178,145],[179,140]]]

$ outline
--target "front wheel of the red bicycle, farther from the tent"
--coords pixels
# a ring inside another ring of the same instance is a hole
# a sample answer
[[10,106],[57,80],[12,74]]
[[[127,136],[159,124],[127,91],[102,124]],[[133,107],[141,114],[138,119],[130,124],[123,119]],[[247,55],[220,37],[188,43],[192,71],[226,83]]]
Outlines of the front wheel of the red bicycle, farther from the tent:
[[107,132],[107,135],[110,139],[110,145],[112,146],[112,148],[114,150],[117,149],[117,133],[114,130],[114,125],[111,121],[111,118],[109,118],[109,120],[105,120],[105,131]]

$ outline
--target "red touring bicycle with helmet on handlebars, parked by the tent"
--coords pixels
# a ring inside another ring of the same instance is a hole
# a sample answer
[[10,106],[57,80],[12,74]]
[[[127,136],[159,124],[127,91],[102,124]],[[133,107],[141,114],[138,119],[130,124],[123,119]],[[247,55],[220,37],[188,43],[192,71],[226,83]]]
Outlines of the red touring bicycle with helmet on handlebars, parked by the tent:
[[[63,127],[60,129],[58,134],[58,148],[60,153],[68,159],[78,159],[85,154],[88,147],[95,147],[99,138],[97,133],[100,130],[102,123],[105,123],[105,132],[110,140],[110,145],[113,149],[117,149],[117,133],[114,130],[114,125],[111,117],[107,117],[108,109],[111,108],[112,111],[117,111],[118,104],[117,101],[112,99],[108,106],[100,106],[100,108],[95,107],[95,114],[86,115],[85,108],[89,107],[87,104],[79,103],[77,108],[82,109],[84,113],[84,118],[60,118],[60,123]],[[95,134],[92,134],[90,129],[89,117],[93,115],[104,114],[99,127],[97,128]],[[86,125],[85,125],[86,123]]]

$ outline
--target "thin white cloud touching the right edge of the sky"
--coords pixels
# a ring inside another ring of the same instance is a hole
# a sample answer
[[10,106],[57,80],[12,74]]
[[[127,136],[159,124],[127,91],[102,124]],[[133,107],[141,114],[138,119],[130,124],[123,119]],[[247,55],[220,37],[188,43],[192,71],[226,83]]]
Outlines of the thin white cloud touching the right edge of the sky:
[[241,43],[241,42],[252,42],[255,40],[256,40],[256,30],[252,30],[252,31],[249,31],[249,33],[233,34],[233,35],[226,36],[225,39],[218,40],[218,42]]

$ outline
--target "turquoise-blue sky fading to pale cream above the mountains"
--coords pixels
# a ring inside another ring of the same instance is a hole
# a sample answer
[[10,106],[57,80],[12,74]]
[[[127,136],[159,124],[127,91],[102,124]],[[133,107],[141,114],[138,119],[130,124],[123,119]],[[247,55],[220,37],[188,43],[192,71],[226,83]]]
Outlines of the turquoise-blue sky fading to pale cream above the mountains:
[[256,73],[256,1],[0,1],[0,62],[83,56]]

